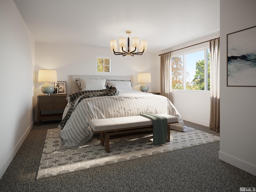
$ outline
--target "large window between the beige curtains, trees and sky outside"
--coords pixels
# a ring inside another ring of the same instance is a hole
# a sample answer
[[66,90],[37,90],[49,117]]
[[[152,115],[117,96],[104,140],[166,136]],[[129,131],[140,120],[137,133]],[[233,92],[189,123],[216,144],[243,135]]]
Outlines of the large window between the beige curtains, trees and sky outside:
[[209,47],[174,55],[171,64],[172,89],[210,90]]

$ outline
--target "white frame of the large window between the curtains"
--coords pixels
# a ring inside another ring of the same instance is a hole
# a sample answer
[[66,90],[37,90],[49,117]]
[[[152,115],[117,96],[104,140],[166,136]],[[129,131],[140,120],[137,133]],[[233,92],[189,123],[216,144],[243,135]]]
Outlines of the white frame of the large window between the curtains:
[[[183,56],[183,89],[172,89],[175,91],[196,91],[196,92],[209,92],[208,90],[208,70],[204,70],[204,90],[189,90],[186,89],[186,54],[200,52],[204,50],[204,69],[208,69],[208,51],[210,52],[209,43],[204,43],[189,48],[184,48],[179,51],[175,51],[175,54],[171,54],[171,58],[176,56]],[[210,61],[209,61],[210,62]],[[184,76],[185,75],[185,76]]]

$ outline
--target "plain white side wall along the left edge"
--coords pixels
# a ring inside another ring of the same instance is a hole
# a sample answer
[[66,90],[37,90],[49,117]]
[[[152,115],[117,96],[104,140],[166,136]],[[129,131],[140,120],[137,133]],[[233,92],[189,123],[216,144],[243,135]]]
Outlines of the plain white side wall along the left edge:
[[12,0],[0,1],[0,178],[33,124],[35,42]]

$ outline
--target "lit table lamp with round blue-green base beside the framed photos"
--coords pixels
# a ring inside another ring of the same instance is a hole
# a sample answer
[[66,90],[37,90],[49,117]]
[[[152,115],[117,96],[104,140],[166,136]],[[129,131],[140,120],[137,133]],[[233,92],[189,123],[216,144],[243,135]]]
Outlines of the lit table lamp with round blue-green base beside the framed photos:
[[56,70],[38,70],[38,82],[45,82],[42,86],[41,91],[44,94],[50,95],[54,92],[54,86],[50,82],[57,81],[57,72]]

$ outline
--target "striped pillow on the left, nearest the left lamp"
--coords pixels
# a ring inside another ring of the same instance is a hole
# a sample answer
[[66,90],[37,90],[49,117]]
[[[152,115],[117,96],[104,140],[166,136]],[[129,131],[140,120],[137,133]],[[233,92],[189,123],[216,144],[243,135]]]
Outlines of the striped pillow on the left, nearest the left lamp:
[[107,79],[76,78],[76,84],[81,91],[102,90],[106,89]]

